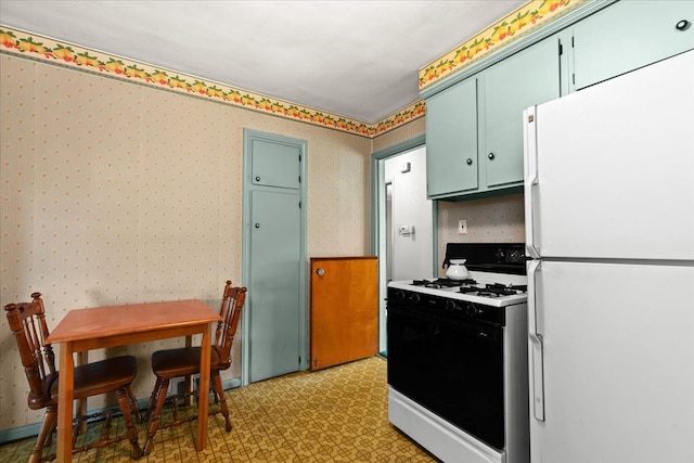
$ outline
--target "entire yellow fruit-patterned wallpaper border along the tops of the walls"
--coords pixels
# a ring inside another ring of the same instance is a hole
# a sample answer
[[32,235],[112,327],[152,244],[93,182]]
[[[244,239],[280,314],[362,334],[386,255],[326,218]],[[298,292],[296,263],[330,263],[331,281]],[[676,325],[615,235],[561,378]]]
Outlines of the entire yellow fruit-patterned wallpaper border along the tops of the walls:
[[[499,23],[478,34],[458,49],[420,69],[420,90],[460,70],[491,50],[519,36],[518,30],[530,30],[556,18],[590,0],[531,0]],[[61,66],[108,75],[141,85],[166,88],[198,98],[248,110],[270,113],[335,130],[374,138],[425,115],[426,105],[419,100],[375,124],[365,124],[343,116],[323,113],[247,90],[204,80],[170,69],[108,55],[76,44],[41,37],[0,25],[0,53],[53,63]]]

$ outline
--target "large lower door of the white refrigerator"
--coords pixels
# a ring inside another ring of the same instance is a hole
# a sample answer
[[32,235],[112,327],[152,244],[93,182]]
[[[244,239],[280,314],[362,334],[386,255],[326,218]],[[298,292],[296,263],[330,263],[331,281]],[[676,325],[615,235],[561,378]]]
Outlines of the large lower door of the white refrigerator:
[[534,267],[531,461],[693,462],[694,267]]

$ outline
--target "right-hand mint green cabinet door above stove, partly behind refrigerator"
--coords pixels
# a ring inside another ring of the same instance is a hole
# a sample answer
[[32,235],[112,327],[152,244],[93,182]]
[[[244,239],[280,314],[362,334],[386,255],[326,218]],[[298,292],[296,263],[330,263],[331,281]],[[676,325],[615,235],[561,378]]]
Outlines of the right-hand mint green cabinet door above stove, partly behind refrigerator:
[[560,39],[549,37],[485,73],[487,188],[523,183],[523,111],[561,97]]

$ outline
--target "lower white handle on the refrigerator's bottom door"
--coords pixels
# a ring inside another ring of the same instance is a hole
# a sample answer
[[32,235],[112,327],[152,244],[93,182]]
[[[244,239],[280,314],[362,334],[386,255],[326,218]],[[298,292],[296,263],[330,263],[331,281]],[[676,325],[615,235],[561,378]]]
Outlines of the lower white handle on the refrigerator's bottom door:
[[528,335],[530,339],[530,394],[532,414],[537,421],[544,421],[544,369],[542,335],[537,329],[536,275],[540,272],[540,260],[532,260],[528,267]]

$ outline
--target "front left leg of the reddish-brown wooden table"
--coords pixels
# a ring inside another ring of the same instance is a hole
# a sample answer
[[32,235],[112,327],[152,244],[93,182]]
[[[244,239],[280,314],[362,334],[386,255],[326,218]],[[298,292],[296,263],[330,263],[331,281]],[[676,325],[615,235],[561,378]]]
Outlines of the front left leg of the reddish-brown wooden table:
[[57,461],[73,461],[73,390],[75,363],[73,343],[62,343],[57,375]]

